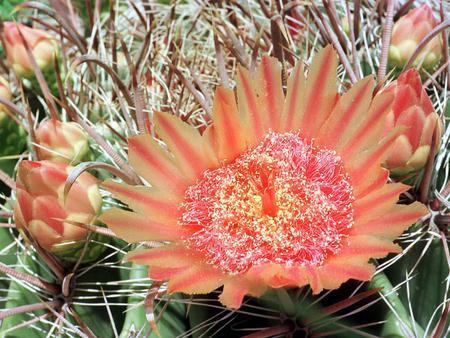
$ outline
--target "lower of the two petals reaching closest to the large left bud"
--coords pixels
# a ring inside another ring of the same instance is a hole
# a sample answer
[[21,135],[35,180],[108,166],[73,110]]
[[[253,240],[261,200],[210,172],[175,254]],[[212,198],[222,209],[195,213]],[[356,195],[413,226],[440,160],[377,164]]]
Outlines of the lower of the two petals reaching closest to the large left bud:
[[149,215],[143,216],[118,208],[107,210],[99,219],[108,225],[117,236],[130,243],[177,241],[195,231],[191,227],[181,227],[176,223],[159,223]]

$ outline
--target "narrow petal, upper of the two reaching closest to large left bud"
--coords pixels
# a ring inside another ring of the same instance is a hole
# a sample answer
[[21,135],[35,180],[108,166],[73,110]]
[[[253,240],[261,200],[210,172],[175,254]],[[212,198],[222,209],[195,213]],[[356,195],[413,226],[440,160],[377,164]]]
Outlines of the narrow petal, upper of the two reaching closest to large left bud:
[[174,197],[154,188],[117,183],[111,179],[103,182],[102,186],[110,191],[114,198],[128,204],[134,211],[151,215],[156,221],[176,222],[178,218],[177,203],[181,201],[181,196]]

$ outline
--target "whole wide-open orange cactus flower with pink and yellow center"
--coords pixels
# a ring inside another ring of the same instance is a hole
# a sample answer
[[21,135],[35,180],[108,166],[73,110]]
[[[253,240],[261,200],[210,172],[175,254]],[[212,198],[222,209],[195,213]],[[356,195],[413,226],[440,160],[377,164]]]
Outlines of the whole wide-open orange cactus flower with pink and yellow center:
[[[310,285],[314,293],[350,278],[369,280],[392,241],[426,214],[397,205],[408,190],[387,184],[381,166],[398,136],[382,139],[393,95],[372,100],[373,79],[336,90],[331,47],[301,63],[283,94],[281,66],[264,57],[255,73],[240,68],[236,95],[219,87],[213,123],[200,135],[178,117],[155,113],[157,135],[129,139],[129,160],[152,187],[108,180],[133,211],[113,208],[101,220],[129,242],[170,242],[134,251],[169,292],[207,293],[238,308],[246,294]],[[235,99],[237,97],[237,102]]]

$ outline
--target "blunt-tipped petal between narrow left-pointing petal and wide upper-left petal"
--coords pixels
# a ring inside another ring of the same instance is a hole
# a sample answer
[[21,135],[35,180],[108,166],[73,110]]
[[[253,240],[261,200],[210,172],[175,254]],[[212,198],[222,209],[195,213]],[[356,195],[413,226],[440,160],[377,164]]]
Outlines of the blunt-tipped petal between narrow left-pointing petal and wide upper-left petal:
[[161,191],[183,195],[192,182],[176,167],[170,155],[150,134],[128,139],[128,157],[137,173]]

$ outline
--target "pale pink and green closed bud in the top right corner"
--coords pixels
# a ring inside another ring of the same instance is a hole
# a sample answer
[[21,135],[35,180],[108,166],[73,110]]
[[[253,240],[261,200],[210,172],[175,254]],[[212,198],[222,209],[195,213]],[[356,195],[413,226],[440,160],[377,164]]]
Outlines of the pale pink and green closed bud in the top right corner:
[[[437,26],[431,8],[427,4],[411,10],[394,25],[389,47],[389,65],[403,68],[422,39]],[[442,58],[441,37],[432,39],[420,52],[414,65],[422,64],[432,70]]]

